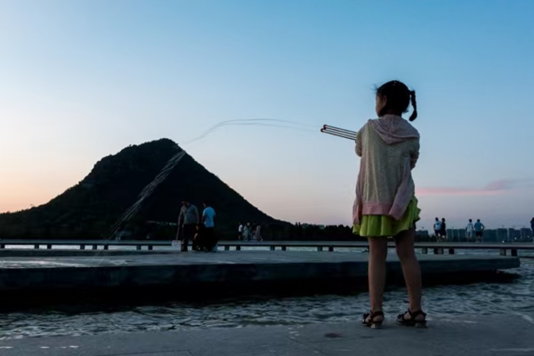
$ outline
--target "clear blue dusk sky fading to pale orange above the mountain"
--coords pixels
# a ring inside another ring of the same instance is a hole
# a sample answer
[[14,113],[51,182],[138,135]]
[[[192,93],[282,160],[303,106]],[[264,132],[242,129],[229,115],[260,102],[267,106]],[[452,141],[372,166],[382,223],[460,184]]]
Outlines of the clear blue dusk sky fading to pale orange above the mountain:
[[[169,138],[273,217],[350,224],[354,142],[319,129],[358,130],[373,86],[398,79],[417,92],[419,226],[528,226],[532,13],[529,0],[0,0],[0,211]],[[295,124],[187,144],[253,118]]]

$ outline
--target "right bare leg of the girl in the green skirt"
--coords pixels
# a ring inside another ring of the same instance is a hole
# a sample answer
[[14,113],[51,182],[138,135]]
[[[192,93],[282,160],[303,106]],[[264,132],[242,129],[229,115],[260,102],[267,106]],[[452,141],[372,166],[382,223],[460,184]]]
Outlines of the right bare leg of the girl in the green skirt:
[[[413,247],[415,239],[415,229],[403,231],[395,236],[395,247],[397,249],[397,256],[399,257],[402,271],[404,274],[404,281],[406,282],[406,289],[408,290],[408,297],[410,300],[410,310],[412,312],[421,309],[421,268],[415,256],[415,249]],[[409,319],[409,315],[405,315]],[[416,319],[423,319],[422,315],[418,315]]]

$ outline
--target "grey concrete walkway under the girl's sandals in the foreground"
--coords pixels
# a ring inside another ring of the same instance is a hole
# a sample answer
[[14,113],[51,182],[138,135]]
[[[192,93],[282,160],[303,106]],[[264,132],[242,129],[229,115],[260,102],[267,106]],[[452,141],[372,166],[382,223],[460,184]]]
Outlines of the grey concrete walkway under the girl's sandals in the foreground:
[[[358,323],[0,340],[2,356],[518,356],[534,354],[534,315],[430,320],[428,329]],[[394,318],[393,315],[389,316]]]

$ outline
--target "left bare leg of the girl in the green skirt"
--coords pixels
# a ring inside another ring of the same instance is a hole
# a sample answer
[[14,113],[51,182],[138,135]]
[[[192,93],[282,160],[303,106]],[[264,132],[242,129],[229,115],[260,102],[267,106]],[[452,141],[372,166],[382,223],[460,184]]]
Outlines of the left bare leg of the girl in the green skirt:
[[[382,311],[384,286],[386,284],[386,258],[388,256],[388,240],[386,238],[369,239],[369,295],[371,310]],[[376,317],[374,321],[383,320]]]

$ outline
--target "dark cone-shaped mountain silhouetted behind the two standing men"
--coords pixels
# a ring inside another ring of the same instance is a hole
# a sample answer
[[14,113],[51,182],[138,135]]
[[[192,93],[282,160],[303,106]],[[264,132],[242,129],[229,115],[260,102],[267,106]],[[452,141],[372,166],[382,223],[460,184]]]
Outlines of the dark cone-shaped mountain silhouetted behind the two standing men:
[[[164,168],[169,169],[166,164],[180,151],[182,148],[167,138],[125,147],[98,161],[80,183],[50,202],[0,215],[0,234],[3,238],[98,239]],[[146,221],[174,223],[185,197],[199,209],[204,200],[210,201],[221,232],[233,233],[239,221],[276,222],[186,154],[125,223],[139,237]]]

